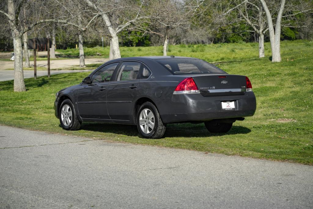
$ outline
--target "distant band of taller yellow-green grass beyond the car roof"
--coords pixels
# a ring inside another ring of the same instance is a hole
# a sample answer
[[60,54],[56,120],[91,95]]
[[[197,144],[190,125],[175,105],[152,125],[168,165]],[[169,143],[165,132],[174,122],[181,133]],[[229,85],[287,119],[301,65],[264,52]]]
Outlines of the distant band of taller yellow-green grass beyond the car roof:
[[[302,46],[312,47],[309,41],[282,41],[281,47],[286,51],[299,50]],[[109,47],[84,48],[86,57],[109,57]],[[57,50],[58,56],[78,58],[79,49]],[[133,56],[162,56],[162,46],[148,47],[120,47],[122,57]],[[101,56],[97,55],[100,54]],[[167,55],[196,57],[209,62],[229,62],[238,60],[255,59],[259,55],[258,43],[221,43],[198,45],[170,45]],[[270,44],[265,43],[265,56],[271,55]]]

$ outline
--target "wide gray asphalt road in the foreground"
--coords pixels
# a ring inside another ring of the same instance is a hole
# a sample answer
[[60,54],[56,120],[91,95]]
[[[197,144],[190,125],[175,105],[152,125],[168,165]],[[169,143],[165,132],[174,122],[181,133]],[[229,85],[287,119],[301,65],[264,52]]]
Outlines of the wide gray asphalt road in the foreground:
[[30,207],[312,208],[313,166],[0,126],[0,208]]

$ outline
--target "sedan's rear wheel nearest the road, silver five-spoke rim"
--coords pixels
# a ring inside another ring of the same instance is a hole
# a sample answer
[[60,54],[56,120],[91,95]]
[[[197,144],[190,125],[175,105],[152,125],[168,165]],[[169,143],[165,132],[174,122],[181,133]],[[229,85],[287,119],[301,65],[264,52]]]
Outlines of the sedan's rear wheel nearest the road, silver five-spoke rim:
[[144,138],[162,138],[164,135],[166,126],[156,106],[151,102],[145,102],[140,106],[137,112],[137,128]]

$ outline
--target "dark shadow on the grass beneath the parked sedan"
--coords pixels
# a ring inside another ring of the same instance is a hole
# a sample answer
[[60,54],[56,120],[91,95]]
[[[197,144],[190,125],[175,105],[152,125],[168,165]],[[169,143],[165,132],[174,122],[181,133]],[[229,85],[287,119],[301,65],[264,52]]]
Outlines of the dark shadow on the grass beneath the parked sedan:
[[[137,127],[135,125],[122,125],[110,123],[82,123],[82,130],[96,131],[102,133],[115,133],[123,134],[126,136],[139,136]],[[223,136],[234,134],[250,133],[249,128],[243,126],[233,126],[227,133],[210,133],[204,124],[167,124],[164,137],[210,137],[210,136]]]

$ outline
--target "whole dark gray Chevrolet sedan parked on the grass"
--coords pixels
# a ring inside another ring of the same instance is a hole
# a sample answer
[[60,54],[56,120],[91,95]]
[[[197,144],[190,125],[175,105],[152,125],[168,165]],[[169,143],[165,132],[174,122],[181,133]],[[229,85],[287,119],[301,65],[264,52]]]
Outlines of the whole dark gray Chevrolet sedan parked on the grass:
[[122,123],[137,125],[145,138],[161,138],[167,123],[204,123],[212,133],[226,133],[236,120],[254,115],[256,100],[248,77],[203,60],[128,57],[60,90],[54,109],[66,130],[85,121]]

